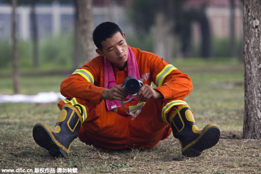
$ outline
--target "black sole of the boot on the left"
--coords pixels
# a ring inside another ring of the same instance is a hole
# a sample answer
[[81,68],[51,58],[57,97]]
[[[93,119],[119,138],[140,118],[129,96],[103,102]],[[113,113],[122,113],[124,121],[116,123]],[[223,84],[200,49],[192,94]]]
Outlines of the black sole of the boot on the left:
[[49,151],[52,157],[67,157],[67,153],[55,144],[48,130],[42,125],[35,125],[33,128],[35,142]]

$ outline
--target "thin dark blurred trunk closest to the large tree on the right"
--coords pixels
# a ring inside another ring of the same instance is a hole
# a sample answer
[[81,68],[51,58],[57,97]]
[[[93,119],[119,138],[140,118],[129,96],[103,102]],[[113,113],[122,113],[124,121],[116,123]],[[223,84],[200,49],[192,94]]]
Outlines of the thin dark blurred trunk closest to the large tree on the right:
[[235,0],[230,0],[230,56],[236,56],[235,48]]

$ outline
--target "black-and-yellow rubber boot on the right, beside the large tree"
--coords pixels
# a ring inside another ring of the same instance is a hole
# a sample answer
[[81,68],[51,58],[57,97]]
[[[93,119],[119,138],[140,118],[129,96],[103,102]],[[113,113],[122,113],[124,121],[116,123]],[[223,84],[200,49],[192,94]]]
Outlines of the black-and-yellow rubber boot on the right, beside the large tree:
[[[170,115],[170,113],[169,113]],[[182,105],[170,115],[173,136],[179,139],[182,155],[196,157],[207,148],[214,146],[220,137],[216,124],[208,124],[199,130],[188,105]]]

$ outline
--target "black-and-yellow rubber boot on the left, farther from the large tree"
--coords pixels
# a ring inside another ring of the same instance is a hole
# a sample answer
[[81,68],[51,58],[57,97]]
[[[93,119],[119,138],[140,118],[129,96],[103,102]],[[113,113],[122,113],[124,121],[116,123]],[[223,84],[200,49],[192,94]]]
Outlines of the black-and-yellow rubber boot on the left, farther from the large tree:
[[44,122],[35,124],[33,128],[35,142],[46,148],[52,157],[67,157],[71,143],[79,134],[82,116],[74,106],[65,104],[61,108],[53,130]]

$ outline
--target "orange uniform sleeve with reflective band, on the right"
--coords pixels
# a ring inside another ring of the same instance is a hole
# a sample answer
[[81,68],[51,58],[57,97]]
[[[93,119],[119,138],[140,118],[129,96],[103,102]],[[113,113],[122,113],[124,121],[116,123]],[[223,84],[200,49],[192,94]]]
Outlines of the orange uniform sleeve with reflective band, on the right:
[[153,83],[157,86],[164,99],[183,99],[193,89],[192,81],[188,75],[180,72],[164,59],[155,57],[151,65],[153,69]]

